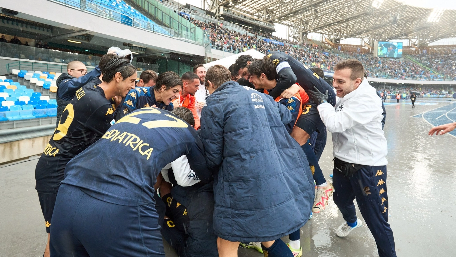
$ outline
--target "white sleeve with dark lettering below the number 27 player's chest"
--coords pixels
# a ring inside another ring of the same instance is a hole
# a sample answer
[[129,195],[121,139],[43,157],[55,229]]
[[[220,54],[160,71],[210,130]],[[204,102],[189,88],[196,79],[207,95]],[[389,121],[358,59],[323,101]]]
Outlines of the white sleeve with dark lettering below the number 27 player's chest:
[[190,168],[187,156],[185,155],[182,155],[181,157],[177,158],[172,163],[168,163],[168,165],[166,165],[165,168],[161,170],[161,175],[163,176],[165,181],[169,183],[171,183],[168,176],[168,169],[170,168],[172,168],[174,178],[176,178],[177,184],[180,186],[189,187],[200,182],[198,176]]

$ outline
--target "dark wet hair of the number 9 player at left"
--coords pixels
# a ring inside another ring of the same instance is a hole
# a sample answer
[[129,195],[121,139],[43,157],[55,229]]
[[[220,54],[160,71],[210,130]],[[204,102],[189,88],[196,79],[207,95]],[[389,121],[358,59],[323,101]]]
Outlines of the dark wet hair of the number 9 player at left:
[[[100,66],[98,66],[100,67]],[[100,67],[101,73],[103,73],[103,81],[106,83],[111,82],[114,79],[116,73],[120,73],[123,80],[127,79],[131,75],[136,73],[136,68],[129,60],[115,56],[109,59],[103,67]]]

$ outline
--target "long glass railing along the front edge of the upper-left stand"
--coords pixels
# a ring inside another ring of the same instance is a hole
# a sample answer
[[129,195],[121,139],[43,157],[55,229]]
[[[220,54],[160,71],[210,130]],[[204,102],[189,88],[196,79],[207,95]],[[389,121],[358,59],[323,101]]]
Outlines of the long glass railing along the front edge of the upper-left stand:
[[[117,22],[120,22],[125,25],[141,28],[146,31],[161,34],[166,37],[172,37],[172,38],[175,38],[175,39],[178,39],[181,41],[185,41],[185,42],[192,42],[197,45],[204,45],[202,32],[195,33],[196,28],[193,28],[193,29],[190,28],[189,29],[190,33],[187,33],[186,31],[183,31],[183,30],[174,30],[174,29],[166,28],[166,27],[159,26],[152,22],[147,22],[142,19],[136,19],[134,17],[129,17],[122,13],[116,12],[114,10],[110,10],[108,8],[108,6],[102,5],[93,0],[84,0],[84,1],[49,0],[49,1],[61,4],[61,5],[66,5],[68,7],[76,8],[78,10],[88,11],[97,16],[109,19],[111,21],[117,21]],[[83,2],[84,5],[82,5],[81,2]],[[174,27],[174,26],[171,26],[171,27]],[[192,30],[195,31],[195,32],[193,32],[193,34],[192,34]],[[200,31],[201,31],[201,29],[200,29]]]

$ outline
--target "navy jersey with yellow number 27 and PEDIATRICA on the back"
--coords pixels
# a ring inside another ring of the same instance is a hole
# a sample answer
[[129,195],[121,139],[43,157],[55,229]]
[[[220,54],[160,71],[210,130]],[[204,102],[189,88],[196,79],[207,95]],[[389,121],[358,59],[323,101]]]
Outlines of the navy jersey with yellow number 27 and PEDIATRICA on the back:
[[158,174],[182,155],[203,183],[212,180],[197,131],[167,110],[146,107],[125,115],[74,157],[62,184],[113,204],[153,204]]

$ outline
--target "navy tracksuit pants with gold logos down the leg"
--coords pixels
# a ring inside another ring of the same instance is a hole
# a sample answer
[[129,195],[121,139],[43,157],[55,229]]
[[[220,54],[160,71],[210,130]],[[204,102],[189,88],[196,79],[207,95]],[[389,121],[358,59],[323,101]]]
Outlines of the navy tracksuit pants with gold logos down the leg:
[[396,257],[393,231],[388,224],[388,192],[386,165],[364,166],[345,177],[333,170],[334,203],[347,222],[356,222],[353,200],[356,198],[361,215],[375,238],[380,257]]

